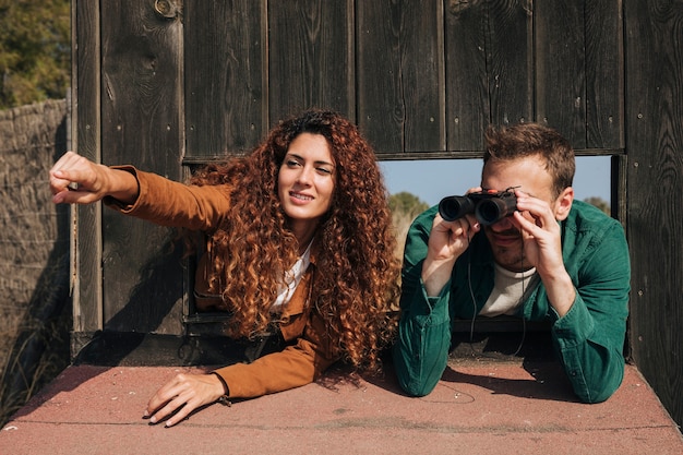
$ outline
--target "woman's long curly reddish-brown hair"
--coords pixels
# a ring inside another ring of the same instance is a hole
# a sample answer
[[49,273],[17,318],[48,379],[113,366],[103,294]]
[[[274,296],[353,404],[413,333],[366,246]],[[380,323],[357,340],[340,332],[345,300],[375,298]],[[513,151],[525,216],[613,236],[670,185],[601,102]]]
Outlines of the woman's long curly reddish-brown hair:
[[315,234],[311,302],[338,356],[375,369],[395,333],[400,265],[374,152],[356,125],[334,111],[312,109],[284,120],[247,157],[209,164],[192,177],[193,184],[233,188],[230,213],[209,240],[209,289],[221,294],[232,312],[230,336],[253,336],[276,318],[271,307],[278,284],[299,255],[278,197],[278,170],[303,132],[327,140],[336,168],[332,203]]

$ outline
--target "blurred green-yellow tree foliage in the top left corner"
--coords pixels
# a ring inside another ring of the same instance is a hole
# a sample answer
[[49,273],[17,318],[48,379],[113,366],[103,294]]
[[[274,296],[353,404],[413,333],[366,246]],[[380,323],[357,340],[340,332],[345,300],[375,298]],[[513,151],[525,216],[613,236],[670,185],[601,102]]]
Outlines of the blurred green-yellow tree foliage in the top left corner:
[[61,99],[70,79],[70,0],[0,0],[0,109]]

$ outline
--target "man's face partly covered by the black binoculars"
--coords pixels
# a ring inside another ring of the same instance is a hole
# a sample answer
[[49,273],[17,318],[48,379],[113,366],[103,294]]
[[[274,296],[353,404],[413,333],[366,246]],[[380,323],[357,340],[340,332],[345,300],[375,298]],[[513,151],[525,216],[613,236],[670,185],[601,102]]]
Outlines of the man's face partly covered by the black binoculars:
[[[512,161],[488,161],[483,167],[481,187],[484,190],[496,191],[515,188],[548,202],[551,208],[555,209],[552,178],[538,155]],[[523,213],[523,215],[529,220],[534,219],[529,213]],[[493,258],[499,265],[513,272],[531,268],[524,258],[522,234],[513,223],[512,216],[484,226],[483,231],[491,243]]]

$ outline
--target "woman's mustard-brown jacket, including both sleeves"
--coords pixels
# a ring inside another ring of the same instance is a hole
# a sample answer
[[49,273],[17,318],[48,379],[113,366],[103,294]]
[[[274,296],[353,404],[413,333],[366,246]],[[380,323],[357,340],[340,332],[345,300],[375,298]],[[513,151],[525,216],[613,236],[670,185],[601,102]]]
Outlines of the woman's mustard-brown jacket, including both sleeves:
[[[133,205],[110,197],[105,200],[108,206],[123,214],[160,226],[211,231],[220,225],[230,208],[228,185],[185,185],[132,166],[117,168],[133,173],[140,184],[140,195]],[[216,370],[228,385],[230,397],[251,398],[305,385],[337,360],[325,323],[310,302],[313,286],[314,256],[278,321],[288,346],[252,363]]]

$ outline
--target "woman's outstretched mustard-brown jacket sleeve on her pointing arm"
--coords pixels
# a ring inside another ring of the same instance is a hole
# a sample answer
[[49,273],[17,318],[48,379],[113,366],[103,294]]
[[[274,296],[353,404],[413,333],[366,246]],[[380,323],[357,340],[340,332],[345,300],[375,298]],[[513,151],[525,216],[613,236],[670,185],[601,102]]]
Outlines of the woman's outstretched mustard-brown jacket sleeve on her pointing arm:
[[123,205],[112,197],[104,203],[125,215],[169,227],[211,231],[220,225],[230,207],[228,185],[188,185],[144,172],[132,166],[116,166],[137,179],[140,194],[133,205]]

